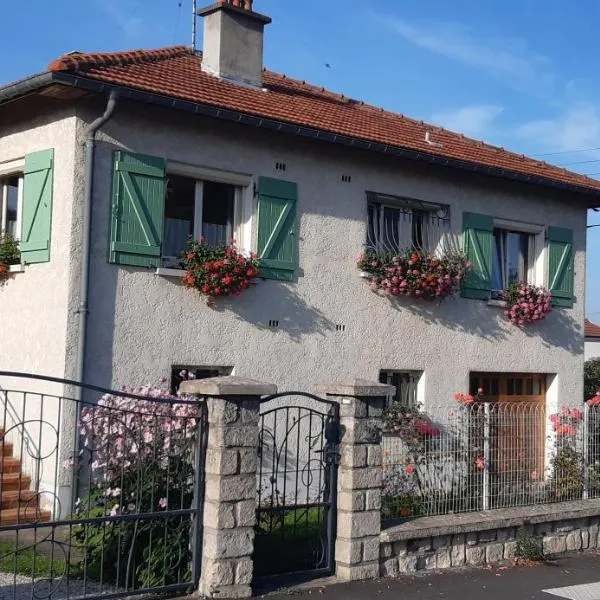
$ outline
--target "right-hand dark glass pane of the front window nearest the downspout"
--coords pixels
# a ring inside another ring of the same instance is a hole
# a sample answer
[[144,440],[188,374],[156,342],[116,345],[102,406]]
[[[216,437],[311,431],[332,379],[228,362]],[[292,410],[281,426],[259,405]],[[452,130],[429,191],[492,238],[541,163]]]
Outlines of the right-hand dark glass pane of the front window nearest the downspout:
[[209,244],[229,244],[233,237],[235,186],[204,182],[202,234]]

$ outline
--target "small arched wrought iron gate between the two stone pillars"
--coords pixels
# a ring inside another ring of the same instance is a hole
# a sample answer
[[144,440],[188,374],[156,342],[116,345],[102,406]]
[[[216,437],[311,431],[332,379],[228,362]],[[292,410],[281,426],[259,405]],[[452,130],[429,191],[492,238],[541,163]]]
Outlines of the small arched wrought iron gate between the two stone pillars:
[[337,403],[301,392],[261,402],[256,575],[333,572],[338,443]]

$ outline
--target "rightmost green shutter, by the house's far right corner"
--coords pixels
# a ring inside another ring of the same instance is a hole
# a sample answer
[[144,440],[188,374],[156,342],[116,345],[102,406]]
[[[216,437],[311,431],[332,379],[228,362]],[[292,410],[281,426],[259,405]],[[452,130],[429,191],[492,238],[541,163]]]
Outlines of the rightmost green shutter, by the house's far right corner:
[[554,306],[573,306],[573,230],[548,227],[548,288]]

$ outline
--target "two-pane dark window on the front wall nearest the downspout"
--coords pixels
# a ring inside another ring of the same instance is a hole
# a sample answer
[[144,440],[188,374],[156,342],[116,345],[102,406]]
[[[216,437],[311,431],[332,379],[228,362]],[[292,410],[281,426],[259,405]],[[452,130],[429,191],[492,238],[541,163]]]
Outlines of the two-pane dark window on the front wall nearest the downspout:
[[169,175],[165,200],[163,260],[177,262],[190,236],[209,244],[234,237],[234,206],[239,188],[227,183]]

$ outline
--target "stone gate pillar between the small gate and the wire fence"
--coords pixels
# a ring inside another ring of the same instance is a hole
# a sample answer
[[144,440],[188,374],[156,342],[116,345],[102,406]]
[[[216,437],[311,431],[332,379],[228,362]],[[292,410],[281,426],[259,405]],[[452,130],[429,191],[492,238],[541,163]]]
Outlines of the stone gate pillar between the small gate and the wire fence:
[[373,579],[379,577],[382,414],[395,388],[357,379],[320,385],[318,391],[340,404],[336,576]]

